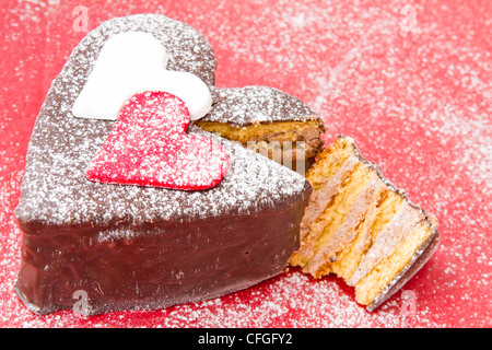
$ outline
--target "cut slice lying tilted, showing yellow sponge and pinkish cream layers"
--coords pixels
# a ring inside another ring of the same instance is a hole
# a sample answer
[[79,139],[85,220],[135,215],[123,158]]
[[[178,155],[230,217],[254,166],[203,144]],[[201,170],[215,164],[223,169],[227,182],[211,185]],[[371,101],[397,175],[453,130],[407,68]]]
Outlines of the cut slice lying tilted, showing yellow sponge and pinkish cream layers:
[[354,140],[339,137],[307,172],[314,190],[290,259],[314,278],[330,272],[355,288],[374,311],[431,257],[440,234],[434,215],[411,203]]

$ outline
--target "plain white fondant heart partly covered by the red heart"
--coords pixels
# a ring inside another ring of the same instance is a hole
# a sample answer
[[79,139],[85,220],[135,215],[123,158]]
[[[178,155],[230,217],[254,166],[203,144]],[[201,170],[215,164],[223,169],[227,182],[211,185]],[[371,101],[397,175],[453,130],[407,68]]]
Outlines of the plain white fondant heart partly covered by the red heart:
[[164,91],[185,102],[191,120],[203,117],[212,105],[207,84],[192,73],[166,70],[167,60],[164,46],[149,33],[112,37],[101,50],[72,114],[116,120],[121,106],[136,93]]

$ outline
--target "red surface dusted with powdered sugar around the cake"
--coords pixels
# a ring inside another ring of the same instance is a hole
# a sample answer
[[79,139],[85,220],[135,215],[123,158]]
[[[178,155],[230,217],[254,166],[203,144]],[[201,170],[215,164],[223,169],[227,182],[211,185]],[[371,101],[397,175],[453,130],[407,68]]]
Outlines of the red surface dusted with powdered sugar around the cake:
[[[163,311],[89,318],[26,311],[12,291],[21,242],[13,209],[36,115],[86,34],[73,26],[78,5],[87,10],[89,30],[148,12],[186,22],[215,51],[218,86],[279,88],[324,117],[328,141],[352,136],[440,220],[440,249],[403,288],[412,298],[399,292],[367,313],[339,279],[315,281],[290,269],[246,291]],[[0,7],[0,326],[492,326],[491,1],[12,0]]]

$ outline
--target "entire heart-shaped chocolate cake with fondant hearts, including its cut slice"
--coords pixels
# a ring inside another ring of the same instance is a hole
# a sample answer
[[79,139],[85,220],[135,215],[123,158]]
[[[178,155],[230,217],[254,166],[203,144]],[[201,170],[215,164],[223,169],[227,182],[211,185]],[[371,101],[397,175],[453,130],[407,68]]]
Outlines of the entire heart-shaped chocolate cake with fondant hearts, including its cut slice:
[[374,311],[430,259],[435,217],[354,140],[325,148],[298,98],[220,89],[214,74],[207,39],[163,15],[107,21],[77,46],[36,120],[15,210],[15,290],[31,311],[162,308],[288,264],[338,275]]

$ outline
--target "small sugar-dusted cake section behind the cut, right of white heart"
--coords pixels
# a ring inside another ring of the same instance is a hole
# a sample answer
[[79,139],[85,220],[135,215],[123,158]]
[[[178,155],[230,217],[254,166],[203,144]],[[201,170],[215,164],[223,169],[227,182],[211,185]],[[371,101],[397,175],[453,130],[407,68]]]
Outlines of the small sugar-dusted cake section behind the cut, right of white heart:
[[323,149],[323,119],[297,97],[251,85],[212,89],[213,105],[196,124],[305,175]]

